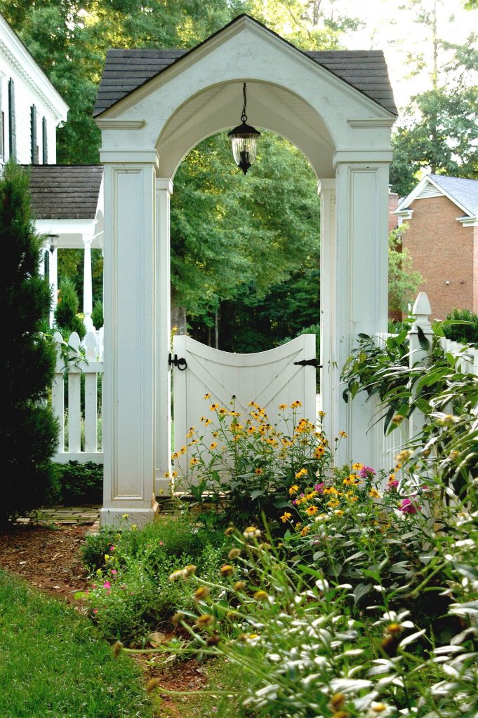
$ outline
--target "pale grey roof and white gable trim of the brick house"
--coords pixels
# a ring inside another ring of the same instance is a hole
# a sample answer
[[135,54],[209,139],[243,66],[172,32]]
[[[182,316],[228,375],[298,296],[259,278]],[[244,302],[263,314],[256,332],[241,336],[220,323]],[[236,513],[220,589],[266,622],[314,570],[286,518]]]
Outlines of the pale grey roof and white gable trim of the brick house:
[[478,180],[464,177],[447,177],[444,174],[426,174],[407,197],[400,201],[395,213],[408,210],[415,200],[443,195],[454,202],[466,215],[478,215]]

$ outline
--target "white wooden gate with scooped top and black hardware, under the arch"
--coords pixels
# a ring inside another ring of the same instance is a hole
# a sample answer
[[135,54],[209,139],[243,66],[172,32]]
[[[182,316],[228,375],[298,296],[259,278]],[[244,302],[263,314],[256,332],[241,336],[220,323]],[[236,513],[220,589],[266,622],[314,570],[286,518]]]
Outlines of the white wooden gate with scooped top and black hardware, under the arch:
[[[200,424],[201,416],[213,419],[211,404],[231,409],[235,396],[236,411],[242,416],[249,412],[249,401],[256,401],[265,409],[270,424],[281,426],[283,414],[280,404],[300,401],[298,417],[316,420],[316,368],[297,362],[316,358],[316,335],[303,334],[287,344],[255,354],[233,354],[213,349],[190,337],[177,335],[173,341],[173,356],[184,359],[186,368],[174,368],[174,446],[187,446],[186,437],[191,426],[201,426],[201,435],[208,446],[212,441],[211,426]],[[182,363],[180,366],[184,367]],[[204,398],[210,394],[211,398]],[[187,472],[189,452],[176,464]]]

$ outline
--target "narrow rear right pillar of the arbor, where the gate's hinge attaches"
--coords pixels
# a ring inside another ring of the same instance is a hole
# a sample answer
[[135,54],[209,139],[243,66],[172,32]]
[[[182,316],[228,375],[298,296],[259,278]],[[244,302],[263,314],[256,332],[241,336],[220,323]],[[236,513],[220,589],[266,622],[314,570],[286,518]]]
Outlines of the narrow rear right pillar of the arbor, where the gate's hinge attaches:
[[[334,362],[336,302],[335,178],[318,182],[321,197],[321,399],[323,428],[330,442],[339,434],[337,406],[341,398],[339,370]],[[339,397],[339,398],[338,398]],[[337,405],[337,406],[336,406]]]

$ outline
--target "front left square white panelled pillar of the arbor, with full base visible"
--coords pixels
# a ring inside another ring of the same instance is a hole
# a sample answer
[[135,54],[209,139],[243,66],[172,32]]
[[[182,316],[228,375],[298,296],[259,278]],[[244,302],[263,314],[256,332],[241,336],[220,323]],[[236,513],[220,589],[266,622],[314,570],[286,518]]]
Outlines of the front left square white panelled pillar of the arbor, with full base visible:
[[[104,162],[104,505],[101,525],[143,526],[155,501],[155,151]],[[127,515],[127,518],[123,518]]]

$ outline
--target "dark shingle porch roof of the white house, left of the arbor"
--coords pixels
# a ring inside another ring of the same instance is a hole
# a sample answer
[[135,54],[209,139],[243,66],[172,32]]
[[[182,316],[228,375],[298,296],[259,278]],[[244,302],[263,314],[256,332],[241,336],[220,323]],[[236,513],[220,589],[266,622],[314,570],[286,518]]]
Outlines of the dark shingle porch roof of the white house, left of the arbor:
[[98,164],[32,164],[32,212],[37,220],[94,219],[103,177]]

